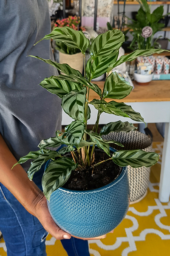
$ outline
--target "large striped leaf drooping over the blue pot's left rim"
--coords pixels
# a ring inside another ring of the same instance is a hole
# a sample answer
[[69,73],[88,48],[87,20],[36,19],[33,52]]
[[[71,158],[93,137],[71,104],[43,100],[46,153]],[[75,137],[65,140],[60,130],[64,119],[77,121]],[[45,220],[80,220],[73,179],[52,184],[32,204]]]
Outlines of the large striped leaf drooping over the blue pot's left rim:
[[42,189],[48,200],[52,192],[66,183],[71,175],[71,171],[76,168],[77,164],[67,157],[62,157],[49,164],[42,176]]

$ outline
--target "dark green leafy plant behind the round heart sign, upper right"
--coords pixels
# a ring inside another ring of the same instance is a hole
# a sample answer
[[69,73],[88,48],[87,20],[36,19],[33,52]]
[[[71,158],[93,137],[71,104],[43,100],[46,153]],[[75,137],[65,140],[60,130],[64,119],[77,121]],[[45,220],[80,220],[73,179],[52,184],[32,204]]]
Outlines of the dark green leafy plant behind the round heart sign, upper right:
[[[131,23],[128,23],[127,26],[133,30],[130,32],[131,35],[133,35],[133,40],[129,48],[131,50],[159,48],[160,45],[156,41],[161,38],[161,36],[156,40],[153,39],[153,36],[156,32],[162,30],[164,24],[159,23],[159,21],[164,18],[164,16],[169,15],[169,13],[163,15],[163,6],[157,7],[153,13],[151,13],[147,0],[137,0],[137,2],[140,4],[140,9],[136,15],[136,20],[128,18]],[[142,37],[142,29],[145,26],[150,26],[153,30],[152,35],[146,39]]]

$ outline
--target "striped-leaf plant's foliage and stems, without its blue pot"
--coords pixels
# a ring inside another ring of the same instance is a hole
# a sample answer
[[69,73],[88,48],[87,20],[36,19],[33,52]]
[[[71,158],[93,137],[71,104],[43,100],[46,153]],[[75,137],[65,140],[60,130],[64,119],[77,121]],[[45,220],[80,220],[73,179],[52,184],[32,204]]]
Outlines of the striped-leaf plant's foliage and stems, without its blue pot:
[[[56,28],[51,34],[45,35],[42,40],[51,38],[57,42],[63,42],[68,47],[80,49],[84,56],[89,47],[89,40],[85,35],[81,31],[75,31],[69,27]],[[78,70],[72,69],[68,64],[59,64],[32,56],[51,64],[61,72],[59,76],[45,78],[40,85],[59,96],[62,99],[63,110],[74,119],[71,124],[65,127],[64,132],[56,131],[56,137],[40,142],[38,145],[40,150],[29,152],[18,161],[18,163],[24,163],[28,159],[32,159],[31,167],[28,169],[28,177],[32,179],[34,173],[41,168],[42,164],[47,160],[51,160],[42,177],[43,192],[48,200],[54,190],[66,183],[72,170],[89,170],[101,163],[94,163],[95,145],[105,151],[110,157],[109,160],[113,160],[119,166],[149,167],[159,159],[158,154],[142,150],[121,150],[115,151],[110,155],[109,143],[122,144],[113,140],[105,141],[102,139],[102,135],[109,134],[111,131],[129,132],[136,129],[132,123],[110,122],[102,128],[99,134],[97,133],[99,118],[103,112],[131,118],[136,122],[144,122],[140,113],[135,112],[131,106],[115,101],[115,99],[126,97],[132,87],[117,73],[112,73],[111,70],[125,61],[134,60],[140,55],[148,56],[154,52],[163,52],[163,50],[136,50],[117,59],[119,48],[124,42],[124,38],[123,33],[117,29],[100,34],[95,38],[90,46],[91,58],[85,66],[84,76]],[[104,73],[107,73],[107,77],[103,91],[101,91],[98,85],[91,82],[91,80]],[[94,90],[97,93],[98,99],[93,99],[89,102],[90,90]],[[93,105],[98,110],[92,130],[87,128],[88,119],[91,116],[89,105]],[[89,139],[87,139],[87,135]],[[62,144],[67,146],[62,147],[59,151],[48,149],[49,147],[56,148]],[[90,149],[91,145],[92,148]],[[72,158],[65,156],[66,152],[71,152]]]

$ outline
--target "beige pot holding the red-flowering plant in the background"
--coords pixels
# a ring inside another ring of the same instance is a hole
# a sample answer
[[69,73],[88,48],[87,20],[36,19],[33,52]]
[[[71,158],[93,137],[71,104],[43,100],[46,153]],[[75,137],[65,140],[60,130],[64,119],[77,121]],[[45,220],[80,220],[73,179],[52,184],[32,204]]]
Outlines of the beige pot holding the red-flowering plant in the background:
[[66,63],[70,67],[79,70],[79,72],[82,73],[84,67],[84,56],[82,52],[78,52],[76,54],[65,54],[59,52],[59,63]]

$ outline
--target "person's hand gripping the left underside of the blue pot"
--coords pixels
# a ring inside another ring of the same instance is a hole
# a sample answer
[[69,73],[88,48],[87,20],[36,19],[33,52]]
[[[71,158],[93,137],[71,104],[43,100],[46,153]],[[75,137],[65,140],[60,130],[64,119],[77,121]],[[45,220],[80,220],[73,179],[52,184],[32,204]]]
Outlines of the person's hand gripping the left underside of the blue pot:
[[[35,216],[39,219],[45,230],[54,236],[57,240],[70,239],[71,235],[62,230],[52,219],[47,206],[47,200],[43,193],[40,192],[36,199]],[[34,202],[35,203],[35,202]]]

